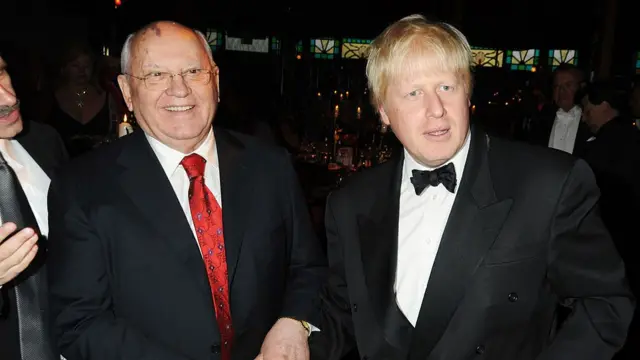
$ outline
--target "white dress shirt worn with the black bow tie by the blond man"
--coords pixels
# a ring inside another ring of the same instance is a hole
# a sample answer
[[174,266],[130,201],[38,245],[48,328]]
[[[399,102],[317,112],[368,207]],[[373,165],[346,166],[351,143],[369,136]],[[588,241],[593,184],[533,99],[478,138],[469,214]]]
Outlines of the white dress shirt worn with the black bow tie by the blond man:
[[413,326],[418,320],[440,240],[462,180],[470,139],[471,135],[467,134],[462,148],[450,161],[443,164],[453,163],[456,169],[458,185],[455,193],[449,192],[440,184],[427,187],[422,194],[416,195],[411,184],[411,171],[433,168],[418,163],[405,150],[400,185],[398,262],[394,289],[398,307]]

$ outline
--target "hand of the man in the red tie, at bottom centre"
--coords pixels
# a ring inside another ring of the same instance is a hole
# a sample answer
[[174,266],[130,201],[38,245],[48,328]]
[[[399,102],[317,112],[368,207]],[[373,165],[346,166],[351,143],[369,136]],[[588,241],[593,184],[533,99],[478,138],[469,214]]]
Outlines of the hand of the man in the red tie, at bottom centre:
[[299,321],[281,318],[264,338],[255,360],[309,360],[308,337]]

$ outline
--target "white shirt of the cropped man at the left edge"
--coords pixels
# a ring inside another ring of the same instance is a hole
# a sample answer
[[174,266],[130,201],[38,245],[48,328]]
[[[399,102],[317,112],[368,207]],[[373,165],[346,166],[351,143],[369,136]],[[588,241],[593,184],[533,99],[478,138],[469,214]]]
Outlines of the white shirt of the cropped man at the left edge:
[[[13,169],[43,236],[49,234],[47,193],[51,179],[16,140],[0,139],[0,152]],[[0,218],[2,223],[2,218]]]

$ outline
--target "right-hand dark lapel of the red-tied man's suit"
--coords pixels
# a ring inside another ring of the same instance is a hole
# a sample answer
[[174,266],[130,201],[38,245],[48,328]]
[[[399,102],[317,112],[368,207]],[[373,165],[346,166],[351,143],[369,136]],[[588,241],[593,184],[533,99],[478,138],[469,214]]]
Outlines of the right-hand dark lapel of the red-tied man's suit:
[[[220,162],[220,186],[222,191],[222,217],[224,242],[227,247],[227,271],[229,286],[233,286],[236,265],[242,248],[244,231],[248,224],[247,210],[253,198],[253,187],[247,180],[253,179],[243,153],[244,145],[231,133],[215,130],[218,161]],[[257,156],[260,156],[259,154]]]

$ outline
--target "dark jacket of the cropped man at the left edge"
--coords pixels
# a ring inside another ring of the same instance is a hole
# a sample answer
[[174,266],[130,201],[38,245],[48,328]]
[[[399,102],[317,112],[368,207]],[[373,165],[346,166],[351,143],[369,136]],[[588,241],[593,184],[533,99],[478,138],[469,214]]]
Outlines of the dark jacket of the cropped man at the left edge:
[[[48,125],[25,122],[24,127],[24,130],[16,136],[16,140],[49,177],[53,176],[54,171],[67,160],[67,153],[62,139]],[[35,219],[32,222],[35,222]],[[35,229],[38,228],[37,223],[30,225]],[[16,279],[5,284],[0,290],[0,353],[3,360],[21,358],[14,287],[19,286],[20,283],[31,276],[46,276],[44,264],[47,258],[47,243],[47,239],[41,236],[38,242],[40,250],[34,261]],[[41,282],[43,286],[40,291],[46,293],[46,279],[43,280]],[[46,295],[43,298],[46,299]],[[48,314],[48,304],[44,302],[40,306],[43,313]],[[45,315],[44,321],[46,322],[47,320],[48,318]],[[48,323],[42,324],[42,326],[50,328]],[[57,353],[54,341],[51,340],[50,345],[53,349],[52,352]]]

